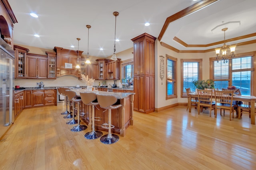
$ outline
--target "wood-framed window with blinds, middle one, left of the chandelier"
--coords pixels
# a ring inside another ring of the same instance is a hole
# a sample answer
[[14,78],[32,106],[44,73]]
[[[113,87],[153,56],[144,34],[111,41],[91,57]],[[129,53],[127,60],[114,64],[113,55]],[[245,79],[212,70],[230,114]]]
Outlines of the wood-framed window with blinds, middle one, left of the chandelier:
[[202,80],[202,59],[180,59],[181,97],[187,97],[186,88],[195,92],[194,80]]

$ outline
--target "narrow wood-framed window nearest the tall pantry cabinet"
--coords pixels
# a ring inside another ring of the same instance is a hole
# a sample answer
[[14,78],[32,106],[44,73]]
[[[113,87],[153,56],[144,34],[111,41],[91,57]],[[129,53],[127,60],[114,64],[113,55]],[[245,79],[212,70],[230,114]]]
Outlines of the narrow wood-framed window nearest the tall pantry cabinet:
[[177,98],[177,59],[166,55],[166,100]]

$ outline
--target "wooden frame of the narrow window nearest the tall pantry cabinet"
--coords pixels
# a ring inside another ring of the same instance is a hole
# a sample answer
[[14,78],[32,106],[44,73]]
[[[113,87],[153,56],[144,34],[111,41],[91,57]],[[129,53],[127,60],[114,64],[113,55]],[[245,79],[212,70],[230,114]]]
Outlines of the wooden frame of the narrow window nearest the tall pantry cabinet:
[[[175,78],[173,79],[173,81],[174,81],[174,89],[173,89],[173,92],[174,92],[174,94],[172,94],[172,95],[167,95],[167,86],[168,86],[168,59],[170,59],[170,60],[172,60],[172,61],[174,61],[175,63],[175,70],[174,70],[174,76],[175,76]],[[177,95],[177,63],[178,63],[178,59],[177,58],[175,58],[175,57],[172,57],[172,56],[170,56],[170,55],[167,55],[166,54],[166,100],[168,100],[168,99],[173,99],[173,98],[177,98],[178,97],[178,95]]]

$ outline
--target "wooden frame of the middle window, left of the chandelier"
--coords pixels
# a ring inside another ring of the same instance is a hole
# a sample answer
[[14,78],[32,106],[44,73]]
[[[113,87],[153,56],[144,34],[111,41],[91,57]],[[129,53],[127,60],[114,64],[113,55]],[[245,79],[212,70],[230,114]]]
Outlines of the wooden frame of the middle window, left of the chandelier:
[[187,98],[188,95],[186,92],[183,92],[183,82],[184,82],[184,63],[191,62],[191,63],[198,63],[198,79],[202,80],[202,63],[203,59],[180,59],[180,97]]

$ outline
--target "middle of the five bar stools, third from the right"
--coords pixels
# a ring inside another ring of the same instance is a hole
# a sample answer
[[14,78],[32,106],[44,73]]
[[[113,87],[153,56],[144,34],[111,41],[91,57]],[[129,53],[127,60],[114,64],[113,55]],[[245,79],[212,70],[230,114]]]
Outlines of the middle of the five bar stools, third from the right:
[[[72,127],[70,130],[72,132],[80,132],[83,131],[87,128],[86,125],[80,125],[80,102],[82,101],[80,97],[76,97],[76,92],[72,91],[72,90],[66,90],[66,93],[68,95],[68,98],[72,101],[72,112],[73,112],[73,116],[74,116],[74,110],[77,110],[77,120],[75,120],[78,125]],[[75,105],[77,105],[77,107],[75,107]],[[68,122],[67,122],[68,124]]]

